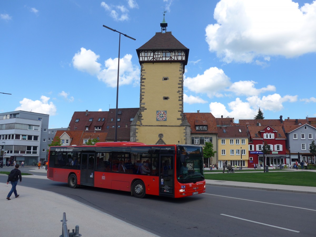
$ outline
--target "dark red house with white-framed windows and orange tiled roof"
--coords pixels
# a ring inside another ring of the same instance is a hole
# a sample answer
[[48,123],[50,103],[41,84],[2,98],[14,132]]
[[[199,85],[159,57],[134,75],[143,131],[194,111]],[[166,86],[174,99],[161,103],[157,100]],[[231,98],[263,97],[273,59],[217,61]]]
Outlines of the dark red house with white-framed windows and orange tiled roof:
[[271,151],[265,155],[266,165],[285,164],[286,158],[286,136],[281,126],[247,126],[249,161],[248,167],[253,164],[263,165],[264,154],[262,152],[263,143],[270,146]]

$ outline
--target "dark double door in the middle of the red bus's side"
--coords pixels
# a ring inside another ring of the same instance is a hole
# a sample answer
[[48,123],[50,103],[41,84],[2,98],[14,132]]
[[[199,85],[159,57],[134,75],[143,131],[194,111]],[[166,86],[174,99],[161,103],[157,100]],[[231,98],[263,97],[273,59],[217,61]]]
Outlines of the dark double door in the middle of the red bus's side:
[[94,185],[94,153],[82,153],[80,183]]

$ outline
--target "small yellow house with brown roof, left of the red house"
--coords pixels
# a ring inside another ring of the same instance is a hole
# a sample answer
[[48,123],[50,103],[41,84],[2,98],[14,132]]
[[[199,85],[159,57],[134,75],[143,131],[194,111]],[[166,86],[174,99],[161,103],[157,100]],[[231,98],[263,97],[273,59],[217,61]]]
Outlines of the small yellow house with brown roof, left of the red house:
[[223,162],[233,167],[248,167],[248,135],[245,126],[217,127],[218,167]]

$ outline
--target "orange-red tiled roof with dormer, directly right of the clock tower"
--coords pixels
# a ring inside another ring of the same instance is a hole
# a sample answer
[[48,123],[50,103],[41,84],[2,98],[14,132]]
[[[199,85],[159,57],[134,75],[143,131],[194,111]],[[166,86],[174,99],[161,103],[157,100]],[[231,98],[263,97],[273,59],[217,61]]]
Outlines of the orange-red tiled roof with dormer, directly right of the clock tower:
[[[211,113],[184,113],[191,125],[191,133],[217,133],[216,119]],[[207,131],[196,130],[197,125],[207,125]]]

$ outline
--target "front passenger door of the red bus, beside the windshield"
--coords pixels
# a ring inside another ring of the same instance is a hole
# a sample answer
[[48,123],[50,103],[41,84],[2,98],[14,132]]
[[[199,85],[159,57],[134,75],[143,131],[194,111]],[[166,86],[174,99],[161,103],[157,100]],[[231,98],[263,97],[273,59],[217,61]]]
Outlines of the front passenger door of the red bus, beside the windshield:
[[160,155],[160,169],[159,169],[159,195],[166,197],[173,197],[174,195],[174,155]]

